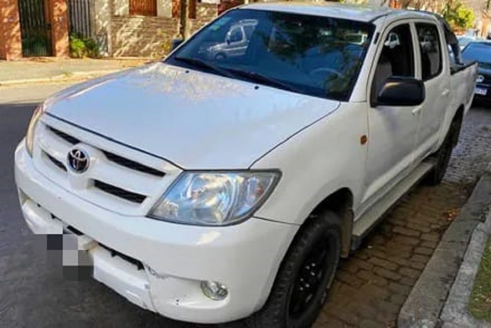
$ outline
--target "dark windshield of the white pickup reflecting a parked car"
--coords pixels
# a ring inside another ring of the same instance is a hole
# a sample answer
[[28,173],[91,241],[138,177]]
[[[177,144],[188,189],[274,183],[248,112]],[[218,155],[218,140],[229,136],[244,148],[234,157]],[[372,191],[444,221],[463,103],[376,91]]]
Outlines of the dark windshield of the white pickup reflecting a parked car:
[[235,9],[193,36],[165,62],[347,100],[373,30],[372,24],[331,17]]

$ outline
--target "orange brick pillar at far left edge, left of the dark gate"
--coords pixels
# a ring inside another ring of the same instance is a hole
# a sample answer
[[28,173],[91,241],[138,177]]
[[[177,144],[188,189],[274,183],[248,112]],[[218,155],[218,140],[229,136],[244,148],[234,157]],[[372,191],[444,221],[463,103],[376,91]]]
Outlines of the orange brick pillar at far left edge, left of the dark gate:
[[22,57],[19,6],[17,0],[0,0],[0,59]]

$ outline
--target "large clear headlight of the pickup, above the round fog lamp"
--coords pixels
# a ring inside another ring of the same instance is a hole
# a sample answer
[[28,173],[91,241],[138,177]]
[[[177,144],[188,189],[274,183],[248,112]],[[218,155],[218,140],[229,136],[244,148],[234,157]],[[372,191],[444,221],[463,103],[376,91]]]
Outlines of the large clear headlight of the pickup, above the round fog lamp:
[[149,217],[193,225],[238,223],[264,203],[279,178],[278,171],[185,172]]

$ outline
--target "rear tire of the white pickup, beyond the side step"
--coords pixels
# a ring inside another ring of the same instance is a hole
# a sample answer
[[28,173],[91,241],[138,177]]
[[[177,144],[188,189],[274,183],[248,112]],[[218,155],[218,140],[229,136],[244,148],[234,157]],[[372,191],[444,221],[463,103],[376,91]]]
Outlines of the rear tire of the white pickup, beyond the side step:
[[460,125],[460,120],[452,121],[449,132],[445,136],[445,140],[443,141],[442,145],[436,151],[436,153],[431,155],[430,159],[435,162],[435,167],[433,167],[424,178],[424,183],[426,185],[436,186],[442,182],[445,172],[447,171],[447,167],[449,166],[453,147],[455,147],[458,142]]

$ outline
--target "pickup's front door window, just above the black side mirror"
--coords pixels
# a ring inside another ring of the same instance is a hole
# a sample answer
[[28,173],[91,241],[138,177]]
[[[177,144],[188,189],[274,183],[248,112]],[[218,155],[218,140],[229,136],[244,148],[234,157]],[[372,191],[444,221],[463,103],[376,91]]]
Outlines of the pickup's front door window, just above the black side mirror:
[[377,94],[388,78],[415,77],[414,62],[413,38],[409,24],[399,25],[390,30],[378,57],[370,94],[371,104],[376,103]]

